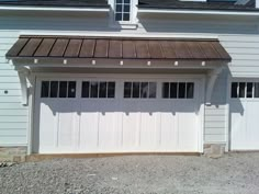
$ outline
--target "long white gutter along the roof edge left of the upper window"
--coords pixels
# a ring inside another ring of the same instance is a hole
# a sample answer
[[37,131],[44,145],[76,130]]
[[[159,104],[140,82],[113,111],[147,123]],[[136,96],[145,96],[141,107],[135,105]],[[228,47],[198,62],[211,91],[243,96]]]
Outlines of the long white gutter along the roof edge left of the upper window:
[[66,11],[66,12],[109,12],[110,8],[55,8],[1,5],[0,11]]

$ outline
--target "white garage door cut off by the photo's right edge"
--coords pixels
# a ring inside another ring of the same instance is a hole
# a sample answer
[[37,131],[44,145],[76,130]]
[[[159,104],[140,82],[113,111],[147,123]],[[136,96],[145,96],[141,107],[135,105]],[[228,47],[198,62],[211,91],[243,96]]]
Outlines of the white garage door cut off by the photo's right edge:
[[259,150],[259,81],[234,81],[230,95],[232,150]]

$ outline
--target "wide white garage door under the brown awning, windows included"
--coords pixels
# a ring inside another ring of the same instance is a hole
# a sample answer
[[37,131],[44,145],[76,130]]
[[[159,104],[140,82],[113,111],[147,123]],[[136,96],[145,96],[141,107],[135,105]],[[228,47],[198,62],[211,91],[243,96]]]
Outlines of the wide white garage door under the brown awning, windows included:
[[38,79],[34,151],[201,152],[199,79]]

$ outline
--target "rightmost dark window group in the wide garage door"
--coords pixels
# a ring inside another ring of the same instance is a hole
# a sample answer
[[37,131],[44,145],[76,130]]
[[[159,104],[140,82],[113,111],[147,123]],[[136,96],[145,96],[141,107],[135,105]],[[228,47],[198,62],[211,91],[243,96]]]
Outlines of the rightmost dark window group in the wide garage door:
[[194,83],[193,82],[164,82],[162,98],[164,99],[193,99]]

